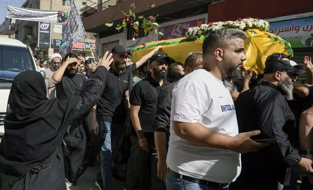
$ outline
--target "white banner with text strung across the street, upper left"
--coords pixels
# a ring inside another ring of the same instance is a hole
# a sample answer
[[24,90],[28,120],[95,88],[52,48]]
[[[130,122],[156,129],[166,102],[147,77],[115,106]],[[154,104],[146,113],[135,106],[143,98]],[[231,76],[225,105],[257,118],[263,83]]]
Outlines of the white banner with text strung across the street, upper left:
[[7,5],[6,17],[17,20],[29,20],[37,22],[68,22],[69,12],[66,11],[47,11],[30,9],[24,7],[14,7]]

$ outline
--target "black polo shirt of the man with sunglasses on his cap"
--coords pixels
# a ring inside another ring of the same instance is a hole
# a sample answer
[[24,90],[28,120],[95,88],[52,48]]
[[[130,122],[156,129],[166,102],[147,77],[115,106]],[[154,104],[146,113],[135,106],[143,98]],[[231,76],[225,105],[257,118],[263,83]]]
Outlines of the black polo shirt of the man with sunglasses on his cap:
[[[165,86],[170,84],[167,80],[163,81],[162,86],[151,76],[140,80],[133,88],[129,102],[133,106],[140,106],[138,113],[142,132],[153,132],[153,124],[156,117],[157,96]],[[155,91],[153,90],[155,89]],[[135,130],[133,129],[132,134]]]

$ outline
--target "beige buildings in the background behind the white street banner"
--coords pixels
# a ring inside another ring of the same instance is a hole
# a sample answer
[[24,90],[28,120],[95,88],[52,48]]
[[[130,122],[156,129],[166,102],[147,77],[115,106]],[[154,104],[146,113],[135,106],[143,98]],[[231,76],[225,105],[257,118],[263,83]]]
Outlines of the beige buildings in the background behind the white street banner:
[[[96,6],[98,0],[75,0],[78,12],[82,14],[89,7]],[[22,7],[70,12],[71,0],[26,0]],[[27,43],[32,48],[35,55],[40,59],[47,60],[50,55],[57,53],[62,40],[62,23],[51,23],[51,48],[38,48],[38,22],[6,19],[0,26],[0,34],[12,35],[16,39]],[[73,53],[84,59],[92,59],[95,53],[95,34],[87,32],[87,39],[73,45]],[[89,48],[90,47],[90,48]]]

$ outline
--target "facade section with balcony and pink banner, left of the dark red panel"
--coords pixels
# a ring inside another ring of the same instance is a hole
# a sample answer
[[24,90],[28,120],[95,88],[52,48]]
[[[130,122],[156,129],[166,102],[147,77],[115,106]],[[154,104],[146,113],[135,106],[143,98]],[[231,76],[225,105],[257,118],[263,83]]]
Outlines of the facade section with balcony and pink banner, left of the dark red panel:
[[[130,7],[135,3],[136,9]],[[94,12],[87,13],[83,19],[83,24],[87,32],[97,33],[96,59],[103,56],[105,51],[111,51],[116,45],[123,45],[127,50],[132,50],[142,43],[148,43],[163,39],[173,39],[184,37],[185,32],[191,26],[198,26],[207,22],[208,4],[212,0],[133,0],[131,3],[125,0],[108,0],[104,3],[98,2],[94,7]],[[149,5],[155,4],[154,8]],[[144,34],[140,28],[139,35],[136,36],[132,27],[125,27],[120,32],[114,27],[107,27],[105,23],[122,23],[124,16],[122,12],[128,13],[131,9],[138,16],[156,16],[159,24],[159,31],[164,36],[158,36],[155,32]],[[84,15],[84,14],[83,14]],[[133,40],[135,38],[135,40]]]

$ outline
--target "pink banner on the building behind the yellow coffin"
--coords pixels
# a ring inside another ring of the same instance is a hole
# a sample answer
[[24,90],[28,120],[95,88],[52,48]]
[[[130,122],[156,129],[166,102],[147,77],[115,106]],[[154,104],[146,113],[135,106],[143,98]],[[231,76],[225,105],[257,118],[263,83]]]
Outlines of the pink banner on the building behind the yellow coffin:
[[163,33],[163,36],[159,36],[159,40],[169,40],[174,38],[186,37],[186,32],[188,28],[192,26],[200,26],[205,22],[206,18],[201,18],[197,20],[191,20],[187,22],[160,27],[159,31]]

